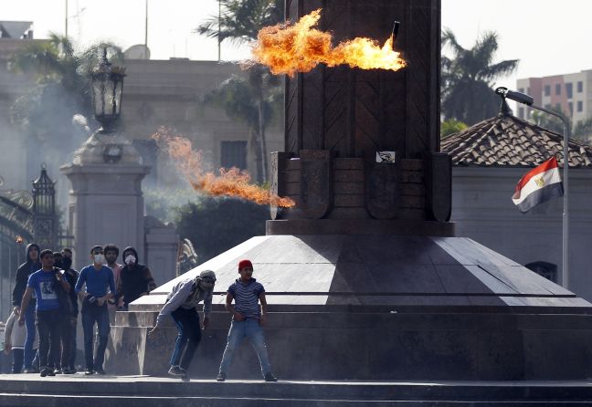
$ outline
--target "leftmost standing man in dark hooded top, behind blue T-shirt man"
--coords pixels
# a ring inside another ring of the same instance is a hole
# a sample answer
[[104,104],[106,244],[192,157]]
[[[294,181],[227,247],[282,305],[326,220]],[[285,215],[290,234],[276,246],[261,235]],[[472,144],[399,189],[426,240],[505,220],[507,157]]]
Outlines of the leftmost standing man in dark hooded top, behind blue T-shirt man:
[[[13,289],[13,307],[17,316],[20,314],[20,306],[23,301],[23,295],[26,290],[26,282],[28,277],[41,269],[41,262],[39,261],[39,246],[35,243],[26,245],[26,262],[18,267],[16,270],[15,288]],[[36,373],[37,370],[33,368],[33,359],[35,353],[33,351],[33,342],[35,342],[35,301],[36,297],[33,294],[31,298],[31,306],[26,308],[25,327],[26,339],[24,350],[24,364],[25,373]]]

